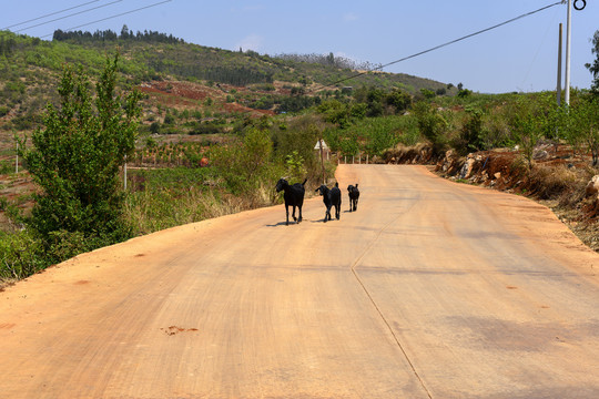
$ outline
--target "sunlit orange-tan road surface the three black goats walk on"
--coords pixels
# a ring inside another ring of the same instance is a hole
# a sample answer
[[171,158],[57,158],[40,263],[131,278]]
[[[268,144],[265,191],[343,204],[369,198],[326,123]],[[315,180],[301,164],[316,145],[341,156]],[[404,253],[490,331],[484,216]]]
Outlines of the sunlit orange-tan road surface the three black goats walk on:
[[338,222],[315,197],[8,287],[0,397],[599,397],[599,255],[550,211],[424,166],[337,178]]

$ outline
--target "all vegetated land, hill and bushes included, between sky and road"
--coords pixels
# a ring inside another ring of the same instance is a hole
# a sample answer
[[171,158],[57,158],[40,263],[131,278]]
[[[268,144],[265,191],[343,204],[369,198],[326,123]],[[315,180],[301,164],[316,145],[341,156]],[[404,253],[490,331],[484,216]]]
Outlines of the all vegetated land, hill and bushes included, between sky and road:
[[[592,43],[599,60],[599,33]],[[376,65],[126,27],[51,42],[0,32],[0,278],[278,204],[280,177],[314,188],[344,162],[428,163],[549,201],[597,248],[598,62],[593,85],[557,106],[555,92],[480,94],[388,73],[329,85]]]

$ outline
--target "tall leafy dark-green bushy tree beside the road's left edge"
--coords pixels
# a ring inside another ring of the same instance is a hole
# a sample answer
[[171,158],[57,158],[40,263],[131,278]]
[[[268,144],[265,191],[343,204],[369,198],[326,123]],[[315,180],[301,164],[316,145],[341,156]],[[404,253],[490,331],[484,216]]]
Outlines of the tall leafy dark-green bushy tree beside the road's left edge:
[[106,58],[95,101],[82,69],[65,66],[58,88],[60,106],[47,106],[44,127],[32,134],[32,147],[26,149],[24,140],[19,146],[42,191],[35,195],[29,226],[47,249],[65,235],[102,246],[129,234],[118,177],[134,150],[140,95],[115,94],[118,60]]

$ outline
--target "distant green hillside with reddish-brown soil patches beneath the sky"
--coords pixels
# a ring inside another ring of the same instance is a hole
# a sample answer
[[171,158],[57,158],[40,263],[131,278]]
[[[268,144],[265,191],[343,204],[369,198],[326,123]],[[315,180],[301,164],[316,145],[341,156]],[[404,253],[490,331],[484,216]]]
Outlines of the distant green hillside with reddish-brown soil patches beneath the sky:
[[[179,103],[202,117],[238,112],[297,111],[316,96],[338,95],[342,90],[376,86],[415,94],[422,89],[445,92],[445,83],[407,74],[365,72],[359,78],[351,60],[328,55],[263,55],[199,44],[159,32],[54,32],[52,41],[0,31],[0,130],[28,131],[40,122],[40,111],[55,99],[57,81],[65,63],[80,64],[92,76],[102,69],[106,53],[121,53],[125,78],[121,86],[151,88],[146,113]],[[186,82],[203,92],[181,101],[164,82]],[[338,83],[336,83],[338,82]],[[449,86],[450,88],[450,86]],[[455,89],[449,90],[454,93]],[[207,100],[210,99],[210,100]],[[227,105],[229,104],[229,105]],[[206,110],[207,108],[207,110]],[[181,111],[181,110],[180,110]]]

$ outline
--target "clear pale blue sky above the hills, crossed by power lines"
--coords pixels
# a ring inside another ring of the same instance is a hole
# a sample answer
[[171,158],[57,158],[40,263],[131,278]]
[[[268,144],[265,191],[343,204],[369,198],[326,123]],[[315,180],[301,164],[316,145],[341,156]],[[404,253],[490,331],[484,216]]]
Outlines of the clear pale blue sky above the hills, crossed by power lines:
[[[90,1],[10,1],[0,16],[0,29]],[[20,31],[44,37],[55,29],[67,30],[162,0],[114,1],[93,1],[11,30],[105,6]],[[386,64],[555,2],[558,0],[171,0],[79,29],[120,32],[126,24],[133,31],[172,33],[191,43],[221,49],[241,47],[271,55],[333,52],[361,62]],[[566,33],[566,4],[551,7],[385,71],[463,83],[481,93],[555,90],[558,25],[562,22]],[[587,0],[585,10],[572,10],[573,88],[587,89],[591,84],[585,63],[593,60],[590,39],[597,30],[599,1]]]

